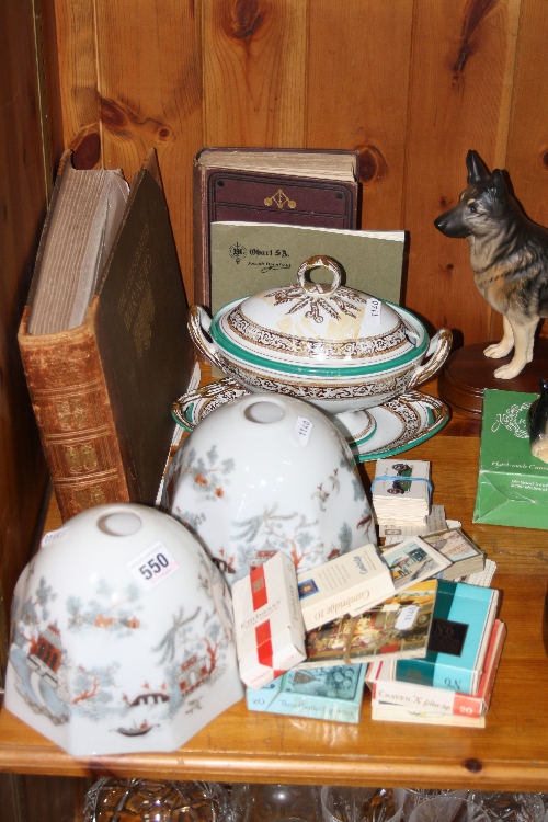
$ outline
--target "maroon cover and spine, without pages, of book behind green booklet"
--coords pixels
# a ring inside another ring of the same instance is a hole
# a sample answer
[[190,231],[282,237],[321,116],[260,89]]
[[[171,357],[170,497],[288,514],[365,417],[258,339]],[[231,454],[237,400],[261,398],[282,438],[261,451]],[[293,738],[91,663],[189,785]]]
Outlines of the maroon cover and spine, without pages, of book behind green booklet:
[[[207,149],[214,151],[215,149]],[[227,150],[227,149],[221,149]],[[237,151],[238,149],[231,149]],[[242,149],[247,152],[253,149]],[[281,151],[281,149],[276,149]],[[299,150],[302,153],[304,150]],[[287,150],[289,153],[289,150]],[[193,167],[194,302],[210,307],[209,225],[218,220],[355,229],[357,182]],[[327,152],[319,152],[327,153]],[[353,153],[353,152],[335,152]]]

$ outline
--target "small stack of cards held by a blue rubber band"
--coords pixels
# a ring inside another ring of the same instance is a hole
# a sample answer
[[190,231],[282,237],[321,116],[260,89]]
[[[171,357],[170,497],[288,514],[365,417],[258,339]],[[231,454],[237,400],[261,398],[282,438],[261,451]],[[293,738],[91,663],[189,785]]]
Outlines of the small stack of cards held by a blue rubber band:
[[373,480],[373,506],[379,525],[425,526],[430,514],[430,463],[377,459]]

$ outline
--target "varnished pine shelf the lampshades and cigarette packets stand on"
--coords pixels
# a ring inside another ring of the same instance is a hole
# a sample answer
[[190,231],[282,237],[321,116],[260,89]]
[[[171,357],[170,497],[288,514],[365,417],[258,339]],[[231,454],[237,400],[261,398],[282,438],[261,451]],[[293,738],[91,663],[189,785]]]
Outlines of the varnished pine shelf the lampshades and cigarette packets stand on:
[[[541,639],[546,532],[472,525],[479,439],[465,419],[410,453],[433,463],[434,501],[498,563],[509,633],[487,728],[358,726],[248,712],[236,705],[170,754],[73,760],[7,710],[0,769],[65,776],[156,776],[224,781],[541,790],[548,785],[548,660]],[[370,475],[373,464],[364,468]],[[52,509],[49,525],[56,524]]]

